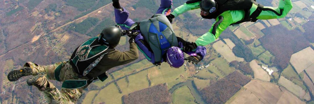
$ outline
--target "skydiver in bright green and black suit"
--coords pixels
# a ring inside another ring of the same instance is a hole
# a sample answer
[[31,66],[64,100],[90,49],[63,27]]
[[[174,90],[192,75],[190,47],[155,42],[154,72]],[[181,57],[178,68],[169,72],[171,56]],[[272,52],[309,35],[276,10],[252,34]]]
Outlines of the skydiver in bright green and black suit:
[[292,8],[290,0],[279,0],[278,7],[264,7],[255,0],[189,0],[177,7],[167,16],[172,19],[184,12],[201,9],[200,15],[205,19],[215,19],[212,28],[199,37],[197,46],[214,42],[228,26],[238,26],[242,22],[256,22],[257,19],[283,18]]

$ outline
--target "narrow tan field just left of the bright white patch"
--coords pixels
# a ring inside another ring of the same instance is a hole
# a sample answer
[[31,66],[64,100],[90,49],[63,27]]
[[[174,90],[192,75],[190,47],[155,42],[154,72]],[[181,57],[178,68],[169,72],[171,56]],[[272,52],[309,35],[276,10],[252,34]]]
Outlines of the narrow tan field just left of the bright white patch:
[[264,81],[270,81],[268,73],[257,64],[256,60],[251,61],[250,66],[254,72],[254,78]]

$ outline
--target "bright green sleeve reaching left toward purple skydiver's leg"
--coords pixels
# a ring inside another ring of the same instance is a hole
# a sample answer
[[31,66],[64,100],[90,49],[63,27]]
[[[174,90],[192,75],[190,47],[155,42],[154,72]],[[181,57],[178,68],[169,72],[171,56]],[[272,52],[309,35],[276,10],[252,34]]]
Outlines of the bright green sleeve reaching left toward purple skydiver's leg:
[[189,0],[183,5],[177,7],[171,14],[177,16],[189,10],[198,9],[200,2],[201,0]]

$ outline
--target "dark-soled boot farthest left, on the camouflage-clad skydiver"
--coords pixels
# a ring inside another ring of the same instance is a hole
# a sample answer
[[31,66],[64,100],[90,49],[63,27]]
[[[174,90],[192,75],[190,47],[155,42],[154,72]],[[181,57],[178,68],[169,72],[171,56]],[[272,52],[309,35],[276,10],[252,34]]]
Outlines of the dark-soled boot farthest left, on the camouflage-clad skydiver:
[[19,80],[19,78],[23,76],[29,76],[32,75],[32,68],[30,67],[22,67],[19,69],[14,69],[8,74],[8,80],[13,82]]

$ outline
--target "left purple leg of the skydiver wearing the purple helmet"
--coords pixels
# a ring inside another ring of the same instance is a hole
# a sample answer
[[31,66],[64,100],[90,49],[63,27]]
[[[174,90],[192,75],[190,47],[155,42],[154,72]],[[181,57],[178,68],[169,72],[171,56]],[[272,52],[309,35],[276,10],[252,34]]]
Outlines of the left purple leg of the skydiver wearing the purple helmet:
[[114,4],[114,10],[115,10],[115,20],[116,23],[122,27],[124,30],[128,30],[135,22],[129,18],[129,12],[123,8],[120,7],[118,0],[112,0]]

